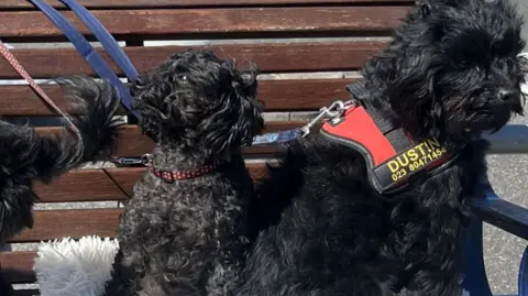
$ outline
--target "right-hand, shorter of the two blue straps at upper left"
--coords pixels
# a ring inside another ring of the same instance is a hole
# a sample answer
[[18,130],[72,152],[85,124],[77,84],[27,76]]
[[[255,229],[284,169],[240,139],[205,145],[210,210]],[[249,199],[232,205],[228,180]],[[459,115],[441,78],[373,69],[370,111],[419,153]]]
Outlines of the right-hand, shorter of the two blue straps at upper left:
[[102,44],[105,51],[112,57],[116,64],[118,64],[129,80],[134,80],[138,78],[138,70],[132,62],[129,59],[121,46],[119,46],[112,34],[108,32],[105,25],[102,25],[102,23],[96,17],[94,17],[85,7],[79,4],[77,0],[59,1],[67,6],[86,24],[86,26]]

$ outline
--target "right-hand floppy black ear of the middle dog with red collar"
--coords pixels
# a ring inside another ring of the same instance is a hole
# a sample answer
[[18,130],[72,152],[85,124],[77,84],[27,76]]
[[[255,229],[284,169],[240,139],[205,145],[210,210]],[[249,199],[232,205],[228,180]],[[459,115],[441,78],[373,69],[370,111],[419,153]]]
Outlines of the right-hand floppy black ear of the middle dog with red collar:
[[229,157],[241,145],[251,145],[253,138],[261,132],[263,108],[256,99],[257,70],[254,66],[240,72],[234,62],[226,61],[220,73],[223,73],[226,87],[222,87],[216,106],[211,106],[215,113],[207,117],[199,129],[207,131],[204,146],[210,154]]

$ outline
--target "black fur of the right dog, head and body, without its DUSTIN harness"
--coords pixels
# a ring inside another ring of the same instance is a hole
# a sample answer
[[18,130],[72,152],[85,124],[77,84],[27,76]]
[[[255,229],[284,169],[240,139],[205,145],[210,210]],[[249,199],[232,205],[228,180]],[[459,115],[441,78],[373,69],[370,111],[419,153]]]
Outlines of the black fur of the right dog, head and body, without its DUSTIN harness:
[[293,142],[258,189],[263,231],[239,295],[460,295],[469,199],[482,196],[486,171],[481,135],[522,112],[520,30],[507,1],[418,3],[365,64],[366,95],[358,99],[459,157],[381,196],[352,149],[317,132]]

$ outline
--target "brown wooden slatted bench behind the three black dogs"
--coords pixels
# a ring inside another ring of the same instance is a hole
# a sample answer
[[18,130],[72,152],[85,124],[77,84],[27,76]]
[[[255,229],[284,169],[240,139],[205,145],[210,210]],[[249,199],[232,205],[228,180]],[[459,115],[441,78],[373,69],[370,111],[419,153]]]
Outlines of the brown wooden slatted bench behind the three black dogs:
[[[48,3],[64,10],[59,1]],[[344,86],[358,77],[354,70],[361,68],[369,56],[383,48],[391,30],[405,15],[413,1],[81,0],[80,3],[89,8],[123,42],[125,53],[140,72],[154,68],[175,52],[204,46],[183,45],[185,42],[199,44],[200,41],[208,41],[208,47],[237,58],[242,66],[246,59],[256,63],[263,73],[260,98],[270,112],[266,113],[266,132],[270,132],[300,127],[307,118],[306,112],[309,117],[310,112],[336,98],[344,98]],[[89,36],[88,30],[72,12],[65,14]],[[57,47],[57,42],[66,41],[64,35],[31,3],[2,0],[0,19],[0,39],[15,47],[13,54],[34,78],[94,74],[68,43]],[[150,46],[154,41],[166,42],[166,45]],[[103,56],[114,66],[107,55]],[[114,70],[122,75],[117,67]],[[2,58],[0,79],[20,79]],[[56,86],[45,85],[43,88],[58,106],[66,108]],[[13,118],[55,116],[25,85],[2,84],[0,94],[0,114]],[[57,129],[40,128],[43,133]],[[153,143],[133,124],[124,127],[121,132],[119,156],[141,156],[153,147]],[[510,152],[508,138],[495,140],[495,149]],[[265,173],[262,161],[273,152],[273,147],[263,146],[245,150],[248,158],[252,160],[248,166],[255,179]],[[121,212],[117,201],[130,197],[133,184],[144,171],[78,169],[51,186],[36,185],[35,193],[43,202],[38,206],[47,209],[35,210],[34,228],[11,240],[13,250],[25,248],[26,243],[63,237],[97,234],[114,238]],[[87,208],[82,204],[87,201],[116,202],[105,202],[102,206],[90,204]],[[53,205],[62,205],[63,209],[50,209]],[[499,209],[492,208],[481,205],[488,220],[499,221],[496,223],[506,224],[506,228],[514,221],[515,229],[508,230],[528,237],[526,221],[518,217],[513,220],[497,218],[507,216],[501,216]],[[472,256],[476,262],[473,266],[480,266],[472,270],[470,277],[476,278],[473,281],[479,283],[479,290],[482,290],[472,295],[488,296],[491,293],[482,259],[482,231],[479,232],[481,228],[482,223],[475,221],[474,231],[469,238],[476,242],[472,244],[477,254]],[[34,256],[33,251],[3,252],[0,254],[0,264],[13,284],[33,283]],[[34,294],[37,294],[34,287],[18,290],[18,295]]]

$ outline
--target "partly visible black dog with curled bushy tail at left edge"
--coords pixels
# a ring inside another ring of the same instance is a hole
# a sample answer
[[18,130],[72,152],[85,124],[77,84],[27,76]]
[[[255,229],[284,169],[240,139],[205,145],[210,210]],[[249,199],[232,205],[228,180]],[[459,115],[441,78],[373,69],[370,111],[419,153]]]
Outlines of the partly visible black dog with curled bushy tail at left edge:
[[[38,135],[31,127],[0,120],[0,245],[33,227],[34,180],[50,183],[84,162],[113,152],[120,125],[114,118],[119,98],[113,88],[84,76],[57,83],[72,103],[73,122],[82,142],[66,131]],[[11,285],[0,274],[0,295],[11,294]]]

